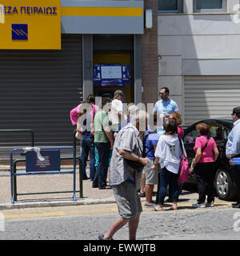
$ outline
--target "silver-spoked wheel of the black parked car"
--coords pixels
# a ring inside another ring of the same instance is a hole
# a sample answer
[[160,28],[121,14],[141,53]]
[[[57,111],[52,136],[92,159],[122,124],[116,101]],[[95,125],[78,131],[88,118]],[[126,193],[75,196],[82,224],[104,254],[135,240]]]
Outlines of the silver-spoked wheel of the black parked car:
[[230,200],[234,197],[234,185],[230,174],[226,170],[218,170],[215,175],[215,189],[222,200]]

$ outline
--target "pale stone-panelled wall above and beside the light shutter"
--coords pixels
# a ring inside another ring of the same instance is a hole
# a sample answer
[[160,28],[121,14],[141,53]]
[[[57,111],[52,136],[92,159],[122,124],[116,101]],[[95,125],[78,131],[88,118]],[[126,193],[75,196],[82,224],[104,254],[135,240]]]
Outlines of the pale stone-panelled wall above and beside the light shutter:
[[[240,22],[233,22],[234,18],[240,19],[234,9],[239,3],[227,0],[225,14],[194,14],[193,0],[185,0],[183,14],[158,14],[158,86],[170,87],[170,96],[181,112],[184,110],[182,66],[184,74],[204,74],[205,63],[208,67],[214,65],[213,73],[231,74],[231,66],[240,60]],[[238,73],[238,69],[234,70]]]

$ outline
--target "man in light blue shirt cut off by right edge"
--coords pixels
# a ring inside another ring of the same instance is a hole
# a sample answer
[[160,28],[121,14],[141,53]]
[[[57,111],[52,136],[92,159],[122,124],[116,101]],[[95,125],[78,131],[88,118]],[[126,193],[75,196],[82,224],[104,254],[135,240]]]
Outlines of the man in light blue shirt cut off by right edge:
[[234,179],[238,190],[238,201],[232,206],[240,208],[240,170],[238,170],[238,166],[233,166],[232,162],[232,158],[240,158],[240,106],[235,107],[231,115],[234,127],[230,131],[226,142],[226,157],[230,158],[230,166],[234,168]]

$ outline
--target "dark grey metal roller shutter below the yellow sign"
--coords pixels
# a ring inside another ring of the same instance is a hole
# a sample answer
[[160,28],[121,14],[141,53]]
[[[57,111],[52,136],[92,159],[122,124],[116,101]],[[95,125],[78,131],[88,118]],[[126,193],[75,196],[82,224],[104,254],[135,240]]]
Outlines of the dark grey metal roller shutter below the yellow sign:
[[[32,129],[35,146],[72,146],[69,114],[80,102],[81,35],[62,35],[62,50],[0,50],[0,130]],[[0,158],[20,146],[30,134],[0,134]]]

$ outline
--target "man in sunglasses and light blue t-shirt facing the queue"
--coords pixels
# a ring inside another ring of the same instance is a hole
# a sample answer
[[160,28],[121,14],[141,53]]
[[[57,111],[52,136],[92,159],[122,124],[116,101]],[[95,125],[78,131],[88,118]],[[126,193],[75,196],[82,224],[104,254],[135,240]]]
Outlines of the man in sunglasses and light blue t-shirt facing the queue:
[[[161,99],[154,105],[154,114],[158,114],[163,119],[163,122],[165,122],[170,114],[174,112],[179,114],[178,104],[169,98],[169,89],[167,87],[162,87],[159,95]],[[158,129],[163,130],[163,123]]]

